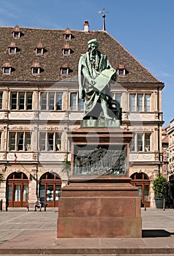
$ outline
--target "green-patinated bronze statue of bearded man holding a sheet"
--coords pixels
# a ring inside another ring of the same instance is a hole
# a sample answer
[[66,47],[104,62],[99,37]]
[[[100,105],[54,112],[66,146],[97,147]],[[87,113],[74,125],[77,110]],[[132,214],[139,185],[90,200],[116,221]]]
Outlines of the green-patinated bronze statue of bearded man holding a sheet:
[[[79,60],[79,97],[84,100],[83,119],[113,119],[116,113],[112,106],[119,103],[112,99],[110,82],[116,81],[116,70],[113,69],[105,54],[97,49],[97,39],[88,41],[88,52]],[[118,117],[117,117],[118,118]]]

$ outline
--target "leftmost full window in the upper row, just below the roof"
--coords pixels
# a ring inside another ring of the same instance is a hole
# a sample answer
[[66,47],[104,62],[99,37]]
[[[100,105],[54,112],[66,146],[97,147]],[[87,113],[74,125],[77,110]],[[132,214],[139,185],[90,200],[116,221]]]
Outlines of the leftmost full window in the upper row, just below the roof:
[[33,93],[31,91],[11,92],[11,110],[31,110]]

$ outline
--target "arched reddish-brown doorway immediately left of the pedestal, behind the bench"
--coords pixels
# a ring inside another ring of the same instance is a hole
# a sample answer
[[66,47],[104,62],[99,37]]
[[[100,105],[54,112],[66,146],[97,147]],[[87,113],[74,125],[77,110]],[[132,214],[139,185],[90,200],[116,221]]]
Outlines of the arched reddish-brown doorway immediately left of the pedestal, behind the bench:
[[58,207],[58,198],[61,195],[61,178],[57,173],[44,173],[39,180],[40,200],[50,207]]

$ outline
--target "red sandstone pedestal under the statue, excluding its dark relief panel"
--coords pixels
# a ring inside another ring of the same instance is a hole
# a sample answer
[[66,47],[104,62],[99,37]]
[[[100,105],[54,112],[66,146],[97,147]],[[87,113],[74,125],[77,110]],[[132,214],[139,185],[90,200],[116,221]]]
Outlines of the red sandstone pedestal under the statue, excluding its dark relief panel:
[[[97,132],[98,131],[98,132]],[[131,138],[129,132],[112,129],[112,132],[100,129],[78,129],[71,133],[72,153],[74,146],[86,143],[86,135],[93,138],[92,133],[99,136],[99,144],[123,143],[127,145]],[[127,147],[129,148],[129,147]],[[129,159],[129,152],[126,161]],[[73,154],[72,154],[73,155]],[[140,197],[138,189],[130,184],[130,178],[122,176],[75,176],[73,173],[74,158],[72,156],[72,178],[64,187],[58,202],[58,238],[138,238],[142,236],[142,219],[140,213]],[[127,172],[129,172],[128,167]]]

